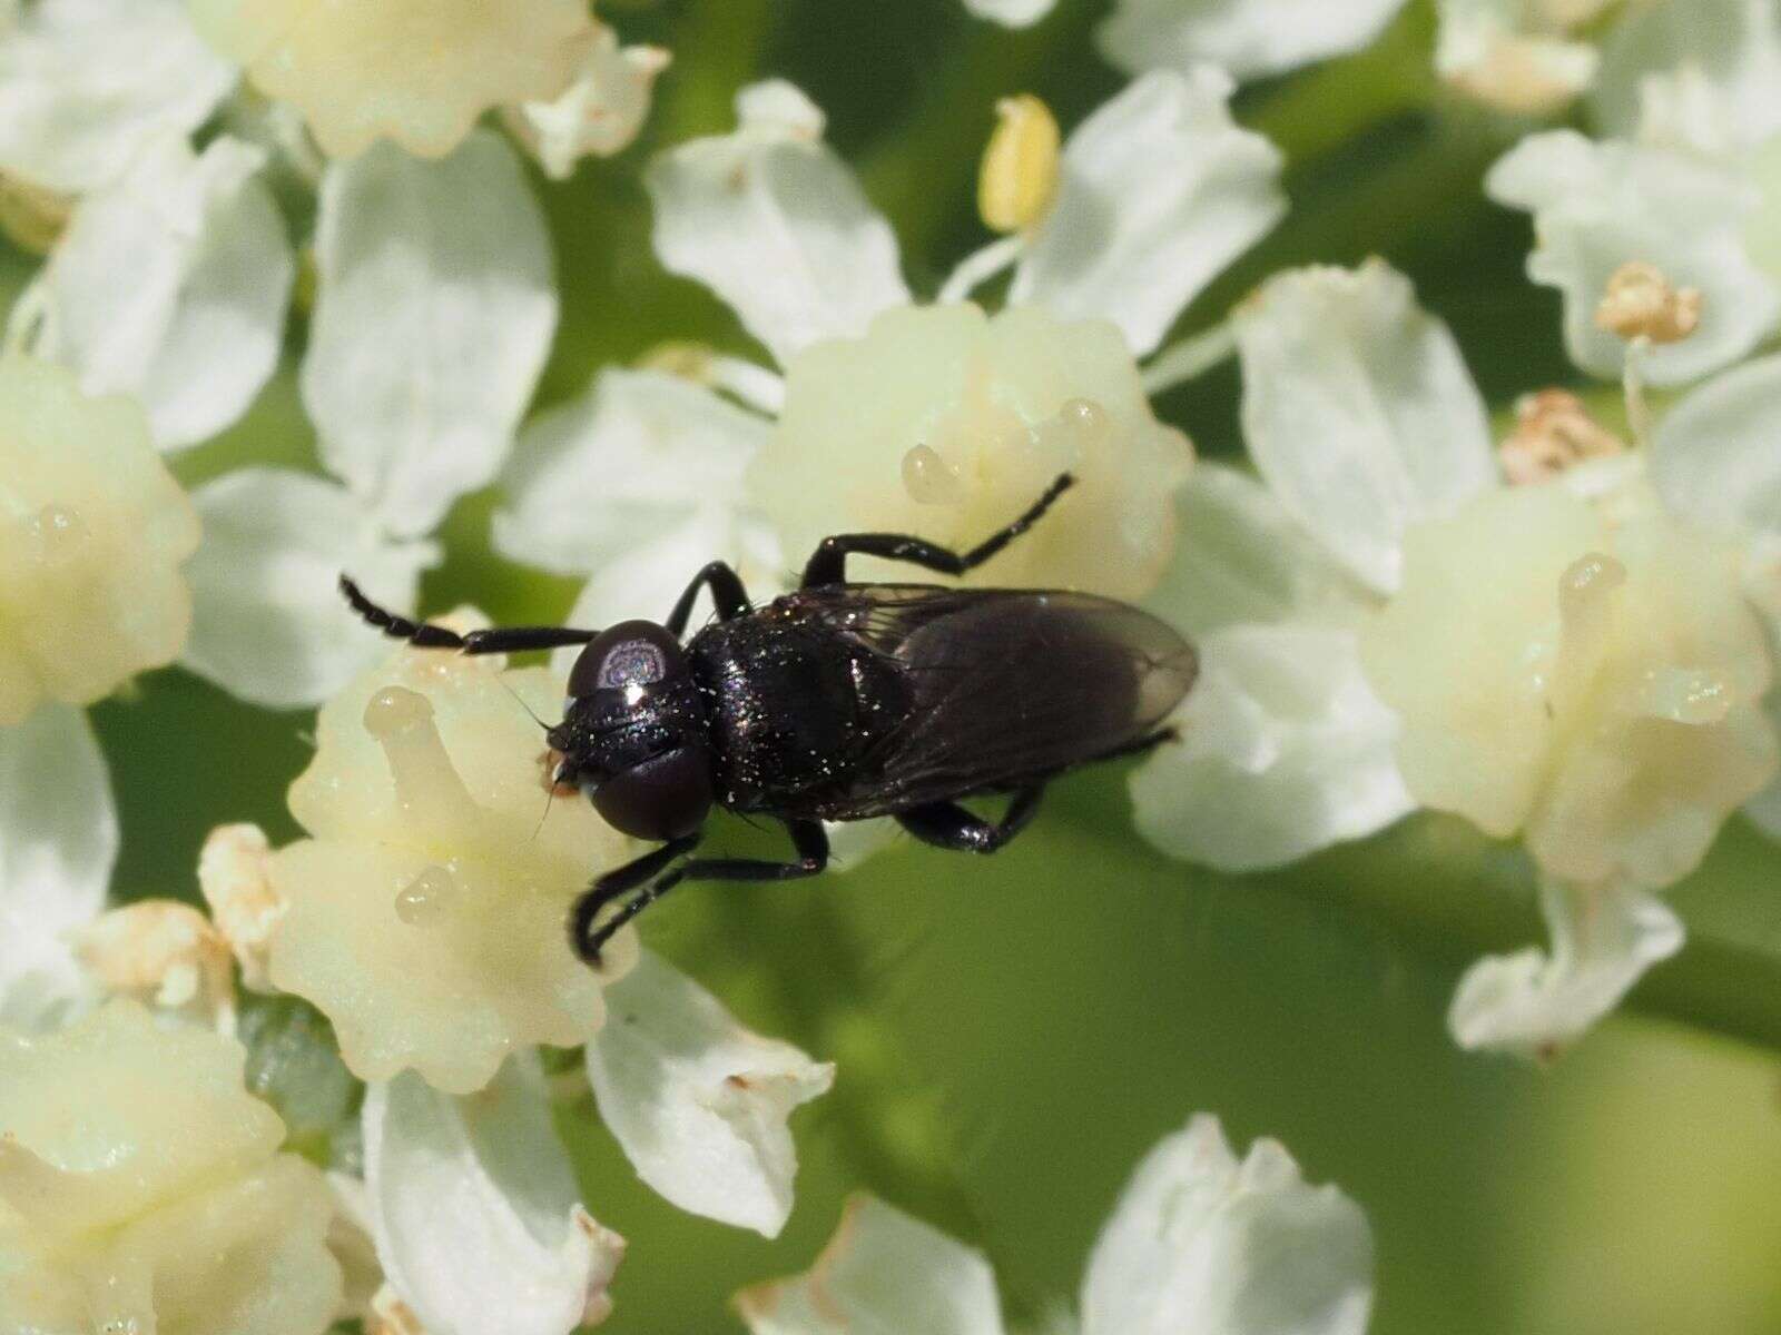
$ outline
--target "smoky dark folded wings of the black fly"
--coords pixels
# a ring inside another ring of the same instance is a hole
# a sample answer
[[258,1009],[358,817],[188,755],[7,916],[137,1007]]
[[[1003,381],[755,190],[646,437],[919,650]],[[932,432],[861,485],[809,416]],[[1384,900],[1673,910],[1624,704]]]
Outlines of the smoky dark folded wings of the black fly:
[[1156,730],[1197,671],[1165,623],[1081,593],[871,584],[793,596],[890,659],[907,689],[905,723],[858,758],[848,815],[1006,789],[1118,751]]

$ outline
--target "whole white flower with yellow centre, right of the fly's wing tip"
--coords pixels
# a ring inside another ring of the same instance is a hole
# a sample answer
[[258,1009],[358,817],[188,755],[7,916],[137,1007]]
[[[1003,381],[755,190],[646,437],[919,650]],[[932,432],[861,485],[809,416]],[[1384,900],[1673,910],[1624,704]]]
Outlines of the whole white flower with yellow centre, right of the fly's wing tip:
[[1265,486],[1200,466],[1183,493],[1152,603],[1202,682],[1133,780],[1138,826],[1232,870],[1416,806],[1521,835],[1553,954],[1482,961],[1452,1024],[1549,1054],[1679,949],[1653,894],[1740,805],[1776,829],[1777,370],[1728,372],[1637,452],[1535,434],[1546,465],[1505,488],[1452,338],[1384,265],[1277,276],[1232,326]]

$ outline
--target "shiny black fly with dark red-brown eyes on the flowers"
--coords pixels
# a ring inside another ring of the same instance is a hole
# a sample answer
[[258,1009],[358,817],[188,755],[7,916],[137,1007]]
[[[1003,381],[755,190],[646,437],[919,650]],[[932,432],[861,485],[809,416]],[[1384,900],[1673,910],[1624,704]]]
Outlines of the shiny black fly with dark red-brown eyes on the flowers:
[[[353,609],[422,648],[508,653],[586,644],[568,678],[554,781],[602,817],[663,846],[600,876],[575,902],[570,940],[600,947],[684,879],[785,881],[828,863],[823,821],[892,815],[944,849],[994,853],[1072,765],[1156,746],[1193,685],[1186,641],[1136,607],[1083,593],[848,584],[850,554],[964,575],[1026,532],[1072,484],[1065,473],[1019,520],[964,555],[901,534],[825,538],[796,593],[752,607],[721,561],[663,625],[508,627],[459,635],[372,603]],[[682,644],[693,600],[716,619]],[[1010,794],[1001,821],[960,797]],[[794,862],[689,858],[712,806],[785,822]],[[673,865],[679,863],[679,865]],[[614,899],[636,890],[598,927]]]

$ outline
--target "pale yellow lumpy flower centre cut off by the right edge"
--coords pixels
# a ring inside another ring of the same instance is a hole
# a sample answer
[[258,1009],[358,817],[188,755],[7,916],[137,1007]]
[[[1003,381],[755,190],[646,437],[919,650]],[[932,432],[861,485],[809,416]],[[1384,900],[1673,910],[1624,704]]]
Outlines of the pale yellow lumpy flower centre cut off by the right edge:
[[1658,888],[1774,778],[1735,546],[1549,484],[1484,493],[1403,552],[1361,653],[1425,806],[1523,833],[1549,876]]

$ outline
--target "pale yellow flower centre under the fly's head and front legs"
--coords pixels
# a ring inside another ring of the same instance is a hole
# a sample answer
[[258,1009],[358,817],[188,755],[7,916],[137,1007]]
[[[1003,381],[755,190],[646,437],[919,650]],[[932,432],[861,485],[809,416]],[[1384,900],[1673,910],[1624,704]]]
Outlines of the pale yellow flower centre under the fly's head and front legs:
[[287,904],[271,979],[321,1007],[353,1073],[413,1068],[481,1089],[502,1057],[572,1047],[606,1018],[606,968],[570,951],[566,918],[625,840],[584,801],[545,803],[543,732],[563,684],[541,668],[399,650],[322,707],[315,760],[290,789],[312,838],[280,849]]

